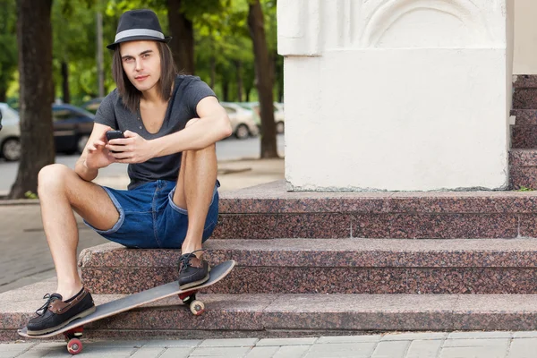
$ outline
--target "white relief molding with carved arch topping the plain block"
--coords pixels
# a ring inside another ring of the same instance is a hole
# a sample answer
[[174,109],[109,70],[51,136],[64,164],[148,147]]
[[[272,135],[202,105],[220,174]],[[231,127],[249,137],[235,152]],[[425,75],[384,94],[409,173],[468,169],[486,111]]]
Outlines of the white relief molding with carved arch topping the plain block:
[[279,0],[278,52],[504,47],[506,18],[506,0]]

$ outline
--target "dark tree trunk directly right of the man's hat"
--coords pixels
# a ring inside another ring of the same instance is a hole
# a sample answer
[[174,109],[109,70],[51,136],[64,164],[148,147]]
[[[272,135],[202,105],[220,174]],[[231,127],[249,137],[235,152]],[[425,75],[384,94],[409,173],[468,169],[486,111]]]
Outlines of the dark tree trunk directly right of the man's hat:
[[192,21],[181,10],[183,0],[167,0],[170,47],[174,54],[177,70],[194,74],[194,30]]

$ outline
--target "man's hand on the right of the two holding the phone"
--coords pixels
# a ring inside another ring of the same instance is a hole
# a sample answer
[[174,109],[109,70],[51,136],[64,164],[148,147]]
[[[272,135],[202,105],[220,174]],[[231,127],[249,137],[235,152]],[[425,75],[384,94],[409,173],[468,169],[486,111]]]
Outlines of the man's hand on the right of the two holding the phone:
[[115,158],[116,163],[143,163],[155,157],[150,141],[144,140],[139,134],[131,131],[124,132],[125,138],[109,141],[106,148]]

